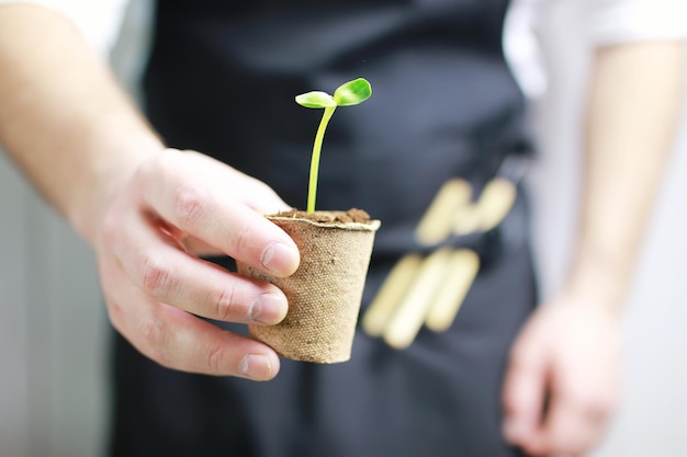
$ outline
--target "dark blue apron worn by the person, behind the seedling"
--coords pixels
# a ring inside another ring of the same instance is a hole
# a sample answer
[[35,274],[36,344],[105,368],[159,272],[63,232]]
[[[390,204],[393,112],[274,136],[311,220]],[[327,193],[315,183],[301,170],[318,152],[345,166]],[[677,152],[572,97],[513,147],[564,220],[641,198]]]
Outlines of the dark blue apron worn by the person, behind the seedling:
[[[304,207],[320,113],[294,95],[369,79],[373,96],[331,121],[318,192],[319,208],[382,220],[364,310],[443,182],[480,188],[505,157],[528,150],[502,53],[506,8],[161,0],[146,107],[168,145],[219,158]],[[452,328],[423,330],[405,351],[359,332],[350,362],[283,359],[274,380],[257,384],[168,370],[117,336],[111,455],[518,455],[500,436],[500,388],[536,302],[526,206],[520,196],[478,240],[487,262]]]

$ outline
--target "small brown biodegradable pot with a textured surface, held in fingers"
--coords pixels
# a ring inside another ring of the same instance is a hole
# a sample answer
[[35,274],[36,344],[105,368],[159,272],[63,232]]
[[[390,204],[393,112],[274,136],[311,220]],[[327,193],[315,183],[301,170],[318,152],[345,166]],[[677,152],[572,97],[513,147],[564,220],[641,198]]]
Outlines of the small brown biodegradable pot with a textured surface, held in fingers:
[[252,338],[284,357],[323,364],[350,358],[380,221],[336,217],[347,214],[316,212],[318,220],[312,220],[312,215],[299,217],[299,213],[268,216],[301,252],[299,270],[289,277],[273,277],[238,263],[240,274],[274,284],[289,300],[289,312],[279,324],[248,325]]

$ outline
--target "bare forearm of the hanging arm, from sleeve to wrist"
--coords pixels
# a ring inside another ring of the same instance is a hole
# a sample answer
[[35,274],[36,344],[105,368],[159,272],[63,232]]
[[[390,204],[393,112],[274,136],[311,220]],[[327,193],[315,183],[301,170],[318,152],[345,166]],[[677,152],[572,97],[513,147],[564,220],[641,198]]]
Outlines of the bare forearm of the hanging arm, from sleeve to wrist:
[[[568,290],[623,301],[682,105],[684,45],[601,48],[592,73],[579,242]],[[597,301],[597,300],[595,300]]]

